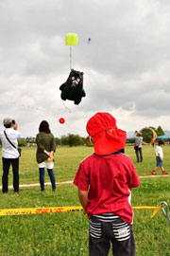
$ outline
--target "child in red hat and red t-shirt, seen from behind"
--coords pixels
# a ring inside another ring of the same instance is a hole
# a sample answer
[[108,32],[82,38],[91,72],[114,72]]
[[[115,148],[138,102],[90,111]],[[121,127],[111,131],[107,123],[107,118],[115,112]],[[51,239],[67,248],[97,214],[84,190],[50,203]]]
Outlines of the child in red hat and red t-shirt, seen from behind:
[[85,158],[74,184],[79,201],[90,219],[90,256],[135,256],[133,213],[128,202],[132,188],[140,185],[132,160],[124,149],[127,134],[117,128],[109,113],[96,113],[87,122],[94,154]]

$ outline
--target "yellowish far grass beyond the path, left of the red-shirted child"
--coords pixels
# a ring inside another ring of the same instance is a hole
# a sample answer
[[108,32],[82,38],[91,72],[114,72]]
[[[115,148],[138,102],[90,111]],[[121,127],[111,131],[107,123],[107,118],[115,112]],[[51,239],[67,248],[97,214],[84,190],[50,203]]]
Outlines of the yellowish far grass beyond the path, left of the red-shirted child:
[[[72,180],[76,174],[79,162],[91,153],[93,153],[93,148],[59,147],[55,155],[54,167],[54,173],[56,174],[57,181]],[[35,148],[22,148],[22,156],[20,157],[20,184],[39,182],[39,170],[35,155]],[[1,161],[0,170],[2,170]],[[45,176],[45,181],[49,181],[47,174]],[[9,185],[12,185],[12,172],[9,173]]]

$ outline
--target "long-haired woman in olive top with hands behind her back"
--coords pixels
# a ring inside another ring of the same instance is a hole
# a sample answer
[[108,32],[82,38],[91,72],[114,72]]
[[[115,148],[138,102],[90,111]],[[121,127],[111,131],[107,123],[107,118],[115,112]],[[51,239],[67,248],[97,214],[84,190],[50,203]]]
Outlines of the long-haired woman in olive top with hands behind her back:
[[51,134],[49,124],[46,120],[42,120],[39,126],[39,134],[36,137],[37,143],[37,162],[39,166],[41,190],[44,191],[44,168],[46,167],[51,184],[52,190],[56,191],[56,181],[53,174],[54,167],[54,152],[56,151],[55,137]]

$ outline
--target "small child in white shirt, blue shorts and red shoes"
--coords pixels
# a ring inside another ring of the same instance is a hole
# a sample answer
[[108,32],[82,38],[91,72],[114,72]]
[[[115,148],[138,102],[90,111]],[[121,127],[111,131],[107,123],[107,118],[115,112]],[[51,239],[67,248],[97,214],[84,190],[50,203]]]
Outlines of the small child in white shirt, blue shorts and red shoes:
[[162,152],[163,146],[164,146],[164,142],[162,140],[159,140],[159,145],[155,149],[157,166],[155,167],[154,170],[152,170],[151,174],[156,174],[156,171],[159,169],[159,167],[161,168],[162,174],[168,174],[164,171],[164,168],[163,168],[163,152]]

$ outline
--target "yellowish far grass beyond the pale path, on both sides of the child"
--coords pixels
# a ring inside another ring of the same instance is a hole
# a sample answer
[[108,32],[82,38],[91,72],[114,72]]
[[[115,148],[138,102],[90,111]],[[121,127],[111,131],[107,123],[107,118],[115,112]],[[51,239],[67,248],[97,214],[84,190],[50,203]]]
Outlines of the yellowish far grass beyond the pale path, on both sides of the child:
[[[134,154],[133,146],[126,147],[126,154],[134,161],[136,170],[140,176],[150,175],[156,164],[155,148],[151,146],[143,147],[144,162],[137,163],[136,155]],[[54,173],[57,181],[72,180],[76,174],[76,169],[79,162],[87,155],[93,153],[93,147],[59,147],[55,155]],[[35,159],[35,148],[23,148],[22,157],[20,158],[20,184],[30,184],[39,182],[38,166]],[[164,168],[170,170],[170,147],[163,147]],[[0,170],[2,163],[0,161]],[[158,171],[161,174],[161,171]],[[49,181],[48,175],[45,176],[45,181]],[[9,173],[9,185],[12,184],[12,172]],[[1,180],[0,180],[1,185]]]

